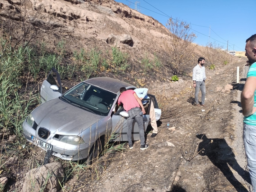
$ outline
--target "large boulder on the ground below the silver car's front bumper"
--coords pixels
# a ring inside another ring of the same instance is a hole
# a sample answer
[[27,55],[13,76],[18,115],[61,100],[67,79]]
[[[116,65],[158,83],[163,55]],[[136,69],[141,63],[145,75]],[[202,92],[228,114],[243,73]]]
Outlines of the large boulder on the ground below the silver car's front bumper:
[[[60,183],[62,183],[63,179],[64,168],[62,164],[49,163],[26,173],[22,191],[30,192],[33,190],[39,192],[44,188],[44,192],[57,192],[61,188]],[[33,189],[31,189],[32,184]]]

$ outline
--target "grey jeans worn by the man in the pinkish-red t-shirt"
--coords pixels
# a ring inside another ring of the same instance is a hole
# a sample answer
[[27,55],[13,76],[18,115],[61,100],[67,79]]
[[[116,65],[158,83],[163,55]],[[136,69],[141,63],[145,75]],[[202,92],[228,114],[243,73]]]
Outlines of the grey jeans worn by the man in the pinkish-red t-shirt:
[[140,145],[145,144],[143,117],[139,115],[140,112],[141,112],[141,109],[139,107],[132,108],[128,111],[129,117],[127,118],[127,138],[128,138],[129,145],[132,145],[131,130],[132,130],[132,124],[134,119],[136,120],[139,127]]

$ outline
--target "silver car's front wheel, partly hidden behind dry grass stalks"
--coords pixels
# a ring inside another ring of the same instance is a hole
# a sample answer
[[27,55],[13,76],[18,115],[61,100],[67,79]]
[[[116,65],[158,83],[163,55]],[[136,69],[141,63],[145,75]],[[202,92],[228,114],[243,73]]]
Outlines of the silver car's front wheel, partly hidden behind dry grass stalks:
[[104,138],[99,138],[99,139],[97,139],[97,141],[95,141],[94,145],[92,146],[92,148],[90,150],[89,156],[87,158],[88,165],[93,164],[93,162],[95,160],[97,160],[97,158],[100,156],[100,154],[104,148],[104,145],[105,145],[104,140],[105,140]]

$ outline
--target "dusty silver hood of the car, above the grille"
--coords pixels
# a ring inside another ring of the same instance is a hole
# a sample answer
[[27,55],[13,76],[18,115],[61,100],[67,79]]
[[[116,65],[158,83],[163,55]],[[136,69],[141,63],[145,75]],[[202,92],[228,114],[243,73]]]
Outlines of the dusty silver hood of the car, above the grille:
[[96,115],[72,106],[59,98],[38,106],[32,116],[38,127],[44,127],[54,134],[78,135],[104,116]]

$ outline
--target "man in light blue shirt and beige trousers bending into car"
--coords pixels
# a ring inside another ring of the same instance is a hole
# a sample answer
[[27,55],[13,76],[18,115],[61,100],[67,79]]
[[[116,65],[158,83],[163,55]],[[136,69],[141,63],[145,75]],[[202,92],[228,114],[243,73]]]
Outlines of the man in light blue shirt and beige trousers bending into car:
[[[137,96],[140,98],[140,100],[149,99],[149,97],[147,95],[147,92],[148,92],[147,88],[138,88],[138,89],[135,89],[134,91],[137,94]],[[150,125],[153,128],[153,133],[150,137],[155,137],[157,135],[158,129],[157,129],[157,124],[156,124],[156,115],[155,115],[155,108],[153,105],[153,101],[151,101],[151,104],[150,104],[149,117],[151,120]]]

